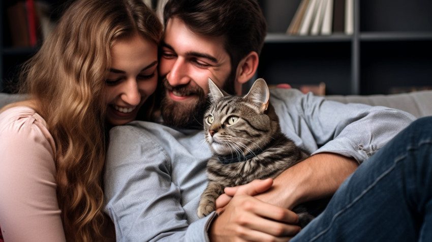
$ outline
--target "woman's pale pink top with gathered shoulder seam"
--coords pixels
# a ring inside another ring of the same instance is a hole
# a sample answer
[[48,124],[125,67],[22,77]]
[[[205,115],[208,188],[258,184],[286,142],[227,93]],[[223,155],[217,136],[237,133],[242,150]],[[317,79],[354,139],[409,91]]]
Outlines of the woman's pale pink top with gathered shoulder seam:
[[0,226],[5,241],[66,241],[56,197],[55,143],[29,107],[0,113]]

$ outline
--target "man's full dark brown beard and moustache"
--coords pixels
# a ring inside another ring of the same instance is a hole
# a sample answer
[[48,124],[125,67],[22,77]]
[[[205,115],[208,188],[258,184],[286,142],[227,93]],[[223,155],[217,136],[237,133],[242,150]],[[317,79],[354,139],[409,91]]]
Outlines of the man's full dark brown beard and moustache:
[[[173,87],[166,78],[163,78],[162,84],[161,113],[164,124],[177,128],[202,128],[204,112],[209,106],[204,90],[189,84]],[[182,95],[196,95],[198,99],[187,103],[175,102],[167,97],[167,90],[175,90]]]

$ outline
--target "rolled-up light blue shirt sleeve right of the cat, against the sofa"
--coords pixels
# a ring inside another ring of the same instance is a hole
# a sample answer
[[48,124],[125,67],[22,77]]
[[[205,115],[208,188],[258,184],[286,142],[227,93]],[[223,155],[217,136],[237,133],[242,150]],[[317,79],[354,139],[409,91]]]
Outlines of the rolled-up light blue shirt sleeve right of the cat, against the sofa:
[[312,93],[302,95],[297,107],[318,144],[312,155],[336,153],[352,157],[359,163],[415,120],[413,115],[401,110],[343,104]]

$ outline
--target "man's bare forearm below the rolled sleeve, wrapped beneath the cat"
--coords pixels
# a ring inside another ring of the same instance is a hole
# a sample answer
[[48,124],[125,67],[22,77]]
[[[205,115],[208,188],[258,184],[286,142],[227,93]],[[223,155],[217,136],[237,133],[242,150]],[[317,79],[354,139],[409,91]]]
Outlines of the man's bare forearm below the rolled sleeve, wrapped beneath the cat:
[[332,153],[321,153],[285,170],[274,179],[269,191],[257,198],[286,208],[331,196],[355,171],[358,163]]

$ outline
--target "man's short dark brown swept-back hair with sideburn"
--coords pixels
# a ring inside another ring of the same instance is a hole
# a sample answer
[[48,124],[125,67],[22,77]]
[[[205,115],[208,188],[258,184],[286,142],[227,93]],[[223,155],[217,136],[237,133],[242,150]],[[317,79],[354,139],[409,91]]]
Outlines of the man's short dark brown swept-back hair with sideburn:
[[231,58],[231,75],[224,86],[234,93],[238,63],[251,51],[258,55],[264,45],[267,24],[256,0],[170,0],[165,5],[165,26],[170,18],[181,19],[194,33],[225,38]]

